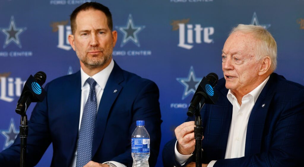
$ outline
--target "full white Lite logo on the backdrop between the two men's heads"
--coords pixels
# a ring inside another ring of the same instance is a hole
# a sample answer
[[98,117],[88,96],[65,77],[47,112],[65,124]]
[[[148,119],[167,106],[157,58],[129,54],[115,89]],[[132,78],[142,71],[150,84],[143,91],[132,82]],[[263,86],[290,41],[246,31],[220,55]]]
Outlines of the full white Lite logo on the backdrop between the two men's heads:
[[179,29],[178,47],[192,49],[194,44],[213,43],[211,36],[214,34],[213,27],[202,27],[201,24],[187,24],[190,19],[173,20],[173,31]]

